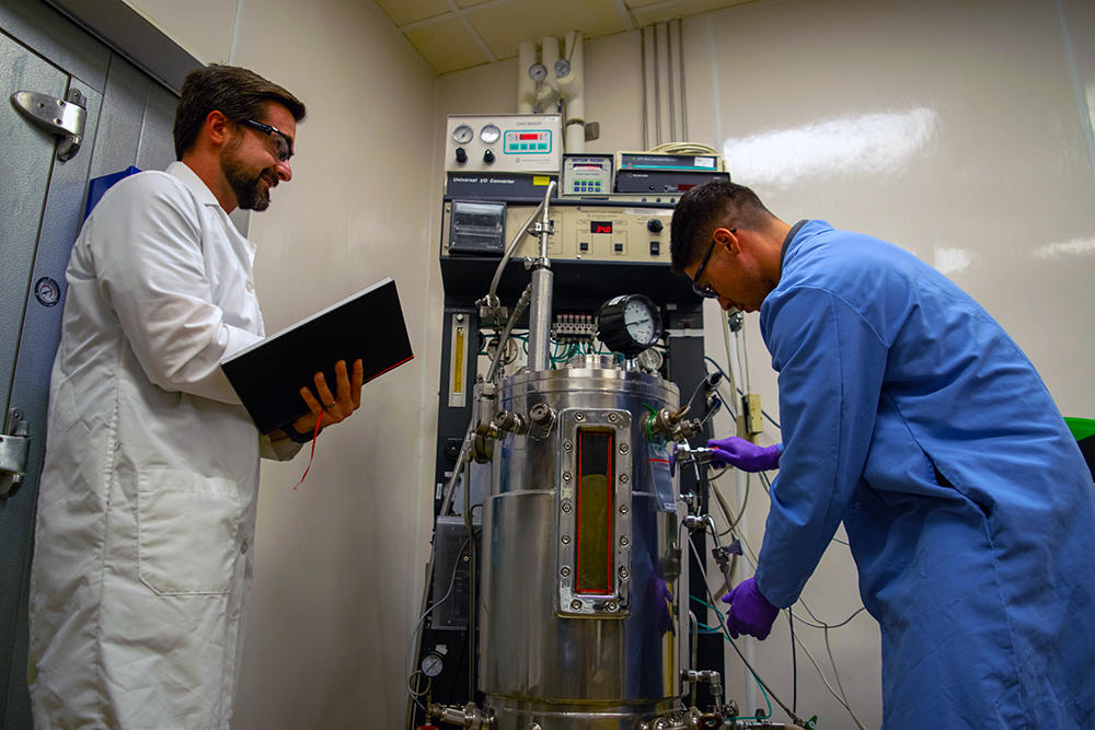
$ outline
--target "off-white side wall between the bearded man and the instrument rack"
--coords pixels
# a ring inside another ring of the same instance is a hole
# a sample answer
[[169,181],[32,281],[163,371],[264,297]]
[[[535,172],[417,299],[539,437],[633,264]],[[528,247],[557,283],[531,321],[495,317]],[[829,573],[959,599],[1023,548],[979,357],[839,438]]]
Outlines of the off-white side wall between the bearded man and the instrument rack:
[[252,223],[268,326],[391,276],[417,356],[368,384],[360,413],[320,438],[299,489],[303,459],[264,465],[233,728],[394,728],[431,503],[420,485],[436,409],[423,396],[436,378],[425,286],[433,73],[372,5],[350,0],[245,2],[233,61],[309,105],[295,181]]

